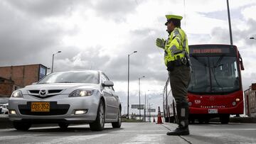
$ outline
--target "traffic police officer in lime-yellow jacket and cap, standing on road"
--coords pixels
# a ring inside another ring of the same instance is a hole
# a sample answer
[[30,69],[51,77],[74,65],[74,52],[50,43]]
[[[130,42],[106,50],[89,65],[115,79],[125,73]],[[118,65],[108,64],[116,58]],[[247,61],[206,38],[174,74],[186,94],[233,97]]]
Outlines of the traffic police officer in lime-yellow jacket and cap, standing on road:
[[188,82],[191,74],[191,63],[188,55],[188,39],[181,29],[182,16],[166,15],[167,40],[157,38],[156,45],[163,48],[164,62],[169,71],[171,92],[176,101],[178,128],[167,135],[189,135],[188,130]]

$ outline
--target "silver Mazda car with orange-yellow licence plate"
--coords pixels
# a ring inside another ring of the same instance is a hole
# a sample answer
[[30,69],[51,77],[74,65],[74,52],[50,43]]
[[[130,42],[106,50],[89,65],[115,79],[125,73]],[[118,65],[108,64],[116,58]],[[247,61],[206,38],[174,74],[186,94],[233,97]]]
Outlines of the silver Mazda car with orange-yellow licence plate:
[[121,127],[121,103],[113,82],[100,71],[54,72],[37,84],[18,89],[9,99],[14,128],[27,131],[32,123],[89,123],[102,131],[105,123]]

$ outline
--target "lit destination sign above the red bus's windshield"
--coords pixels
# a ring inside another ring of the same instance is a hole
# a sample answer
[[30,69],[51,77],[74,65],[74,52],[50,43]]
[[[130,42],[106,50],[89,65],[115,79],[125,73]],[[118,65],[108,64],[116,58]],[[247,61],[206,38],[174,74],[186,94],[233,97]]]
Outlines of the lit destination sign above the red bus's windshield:
[[191,53],[229,53],[229,48],[191,48]]

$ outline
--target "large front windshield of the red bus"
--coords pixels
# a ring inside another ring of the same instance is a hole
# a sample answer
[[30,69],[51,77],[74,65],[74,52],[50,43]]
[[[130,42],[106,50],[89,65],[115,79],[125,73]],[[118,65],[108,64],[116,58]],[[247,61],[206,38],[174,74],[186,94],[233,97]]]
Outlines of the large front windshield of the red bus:
[[192,72],[188,92],[224,94],[240,88],[237,58],[233,56],[191,56]]

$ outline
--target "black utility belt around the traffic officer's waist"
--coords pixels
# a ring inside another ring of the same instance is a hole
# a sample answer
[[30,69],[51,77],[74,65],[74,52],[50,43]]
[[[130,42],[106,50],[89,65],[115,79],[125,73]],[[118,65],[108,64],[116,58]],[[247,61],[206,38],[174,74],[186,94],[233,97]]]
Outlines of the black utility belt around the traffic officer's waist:
[[167,70],[168,71],[173,71],[174,67],[180,67],[181,65],[186,65],[187,67],[190,66],[190,60],[188,57],[179,57],[177,56],[177,60],[173,60],[170,62],[167,62]]

